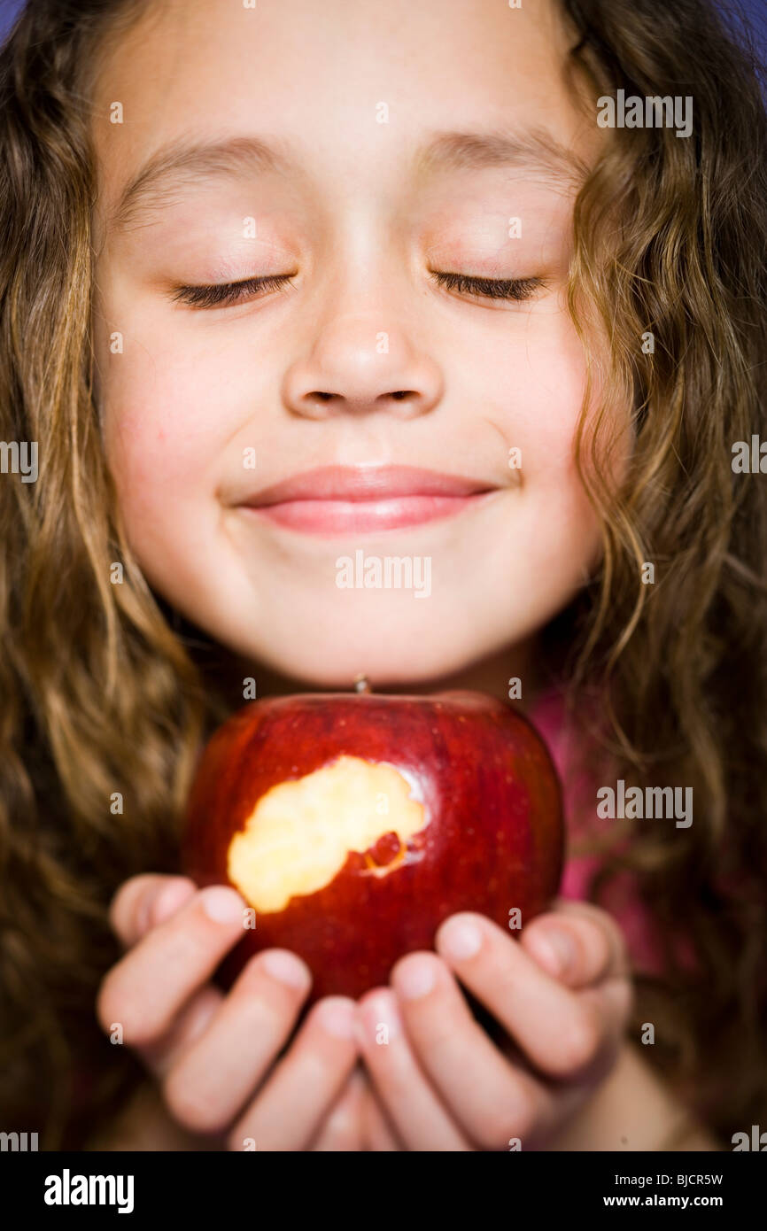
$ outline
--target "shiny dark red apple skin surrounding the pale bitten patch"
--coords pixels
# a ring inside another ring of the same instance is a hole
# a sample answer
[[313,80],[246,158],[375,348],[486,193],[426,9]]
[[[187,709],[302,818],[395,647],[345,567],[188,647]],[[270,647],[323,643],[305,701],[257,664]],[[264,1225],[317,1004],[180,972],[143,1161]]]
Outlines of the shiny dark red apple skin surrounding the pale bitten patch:
[[[417,782],[425,825],[405,846],[382,836],[367,859],[350,851],[330,883],[289,897],[282,910],[256,907],[255,928],[219,966],[225,987],[252,954],[278,947],[309,965],[307,1003],[357,998],[385,985],[405,953],[432,949],[449,915],[478,911],[507,928],[518,907],[524,926],[556,894],[564,824],[549,752],[518,713],[472,692],[308,693],[245,705],[202,752],[182,870],[201,886],[231,884],[229,846],[260,798],[341,755],[385,762]],[[371,874],[396,852],[393,870]]]

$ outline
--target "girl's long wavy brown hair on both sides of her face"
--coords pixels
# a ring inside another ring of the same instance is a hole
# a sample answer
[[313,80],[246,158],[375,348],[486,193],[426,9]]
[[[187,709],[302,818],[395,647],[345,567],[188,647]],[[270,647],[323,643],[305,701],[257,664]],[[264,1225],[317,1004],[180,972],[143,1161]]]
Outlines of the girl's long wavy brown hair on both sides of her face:
[[[139,1078],[95,1022],[107,906],[175,870],[199,739],[231,704],[215,648],[133,559],[94,404],[87,74],[144,7],[28,0],[0,50],[0,437],[39,443],[38,481],[0,483],[1,1097],[48,1150],[80,1147]],[[657,1023],[650,1059],[728,1142],[767,1114],[767,480],[731,468],[736,441],[767,439],[767,121],[753,53],[705,0],[563,10],[597,92],[694,100],[689,139],[612,134],[576,202],[570,310],[587,355],[593,325],[611,340],[577,438],[604,553],[547,636],[571,712],[608,719],[595,772],[693,787],[694,824],[629,825],[592,895],[634,869],[666,939],[634,1025]],[[600,449],[627,404],[614,490]]]

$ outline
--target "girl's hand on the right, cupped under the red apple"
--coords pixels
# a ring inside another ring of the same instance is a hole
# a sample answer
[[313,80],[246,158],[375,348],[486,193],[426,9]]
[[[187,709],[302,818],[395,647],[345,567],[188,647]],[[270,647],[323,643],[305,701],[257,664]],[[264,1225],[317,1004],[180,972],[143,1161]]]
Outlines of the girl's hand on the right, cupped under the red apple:
[[[362,1053],[396,1135],[408,1150],[545,1149],[620,1050],[633,990],[619,928],[560,899],[518,940],[462,913],[435,947],[401,958],[392,987],[359,1001]],[[504,1051],[456,975],[508,1032]]]

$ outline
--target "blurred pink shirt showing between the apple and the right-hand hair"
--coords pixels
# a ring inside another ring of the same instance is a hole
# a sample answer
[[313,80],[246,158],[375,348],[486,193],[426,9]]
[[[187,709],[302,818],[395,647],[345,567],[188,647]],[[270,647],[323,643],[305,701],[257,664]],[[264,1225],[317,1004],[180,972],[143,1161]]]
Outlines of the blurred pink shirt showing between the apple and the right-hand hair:
[[[545,740],[563,784],[568,847],[559,896],[586,901],[588,876],[600,865],[600,856],[572,854],[572,840],[608,832],[611,821],[597,816],[597,784],[584,774],[577,777],[571,768],[572,730],[566,729],[560,693],[552,691],[540,697],[531,708],[529,720]],[[656,923],[639,899],[632,873],[619,872],[602,892],[600,905],[619,923],[634,969],[661,974]]]

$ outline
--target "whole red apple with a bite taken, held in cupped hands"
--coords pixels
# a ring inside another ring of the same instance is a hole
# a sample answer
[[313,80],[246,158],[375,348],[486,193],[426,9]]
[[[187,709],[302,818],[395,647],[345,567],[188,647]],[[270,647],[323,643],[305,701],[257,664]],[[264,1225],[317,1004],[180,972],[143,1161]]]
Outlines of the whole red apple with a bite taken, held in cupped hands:
[[385,984],[456,911],[524,926],[556,892],[563,849],[549,753],[500,700],[315,693],[252,702],[214,732],[182,865],[255,911],[224,985],[277,945],[307,961],[316,1000]]

